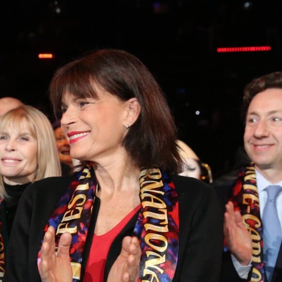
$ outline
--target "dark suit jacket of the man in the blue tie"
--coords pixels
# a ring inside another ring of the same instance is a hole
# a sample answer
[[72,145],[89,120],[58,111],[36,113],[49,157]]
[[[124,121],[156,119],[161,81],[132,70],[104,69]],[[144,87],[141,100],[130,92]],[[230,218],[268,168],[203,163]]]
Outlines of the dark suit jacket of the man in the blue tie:
[[[222,212],[225,212],[225,204],[227,203],[229,196],[232,193],[232,188],[234,186],[234,179],[230,179],[225,183],[220,185],[214,185],[214,189],[221,201]],[[249,276],[251,271],[249,273]],[[236,269],[231,261],[230,252],[224,252],[222,256],[222,269],[220,274],[219,282],[247,282],[248,280],[241,279],[237,274]],[[279,255],[276,261],[276,268],[273,273],[271,282],[282,282],[282,247],[280,247]]]

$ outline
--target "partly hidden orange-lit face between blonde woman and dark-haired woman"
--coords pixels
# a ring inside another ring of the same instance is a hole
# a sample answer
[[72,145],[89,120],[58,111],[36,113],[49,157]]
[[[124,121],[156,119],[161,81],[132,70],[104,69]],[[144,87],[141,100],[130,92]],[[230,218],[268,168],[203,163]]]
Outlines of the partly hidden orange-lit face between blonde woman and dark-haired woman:
[[60,162],[63,162],[69,166],[72,166],[72,158],[70,156],[70,144],[62,131],[61,127],[54,130],[57,150],[59,154]]

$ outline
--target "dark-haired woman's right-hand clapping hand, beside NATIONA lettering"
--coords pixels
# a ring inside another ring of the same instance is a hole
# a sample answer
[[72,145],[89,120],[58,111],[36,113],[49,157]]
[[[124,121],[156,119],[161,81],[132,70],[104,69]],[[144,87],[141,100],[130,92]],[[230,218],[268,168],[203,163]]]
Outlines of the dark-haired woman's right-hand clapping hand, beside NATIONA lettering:
[[112,265],[107,282],[136,282],[139,278],[141,247],[137,237],[123,238],[122,251]]

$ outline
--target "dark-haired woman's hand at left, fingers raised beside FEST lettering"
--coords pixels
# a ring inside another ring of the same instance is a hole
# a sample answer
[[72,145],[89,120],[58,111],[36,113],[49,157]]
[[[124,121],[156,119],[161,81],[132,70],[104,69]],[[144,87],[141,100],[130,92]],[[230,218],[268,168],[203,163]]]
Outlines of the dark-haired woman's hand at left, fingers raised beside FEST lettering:
[[62,234],[55,253],[55,230],[52,226],[44,235],[39,274],[42,282],[72,282],[70,262],[71,234]]

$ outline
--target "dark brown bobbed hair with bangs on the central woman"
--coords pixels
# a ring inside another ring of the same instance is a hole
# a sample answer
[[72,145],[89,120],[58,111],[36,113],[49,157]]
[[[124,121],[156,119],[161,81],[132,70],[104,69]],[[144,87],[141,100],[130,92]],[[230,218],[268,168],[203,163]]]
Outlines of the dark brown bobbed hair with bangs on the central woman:
[[167,172],[180,172],[182,161],[171,109],[152,73],[126,51],[89,52],[59,68],[49,88],[56,117],[61,115],[61,100],[66,92],[79,98],[96,98],[93,82],[122,101],[133,97],[139,101],[140,116],[123,140],[135,164],[141,168],[158,166]]

